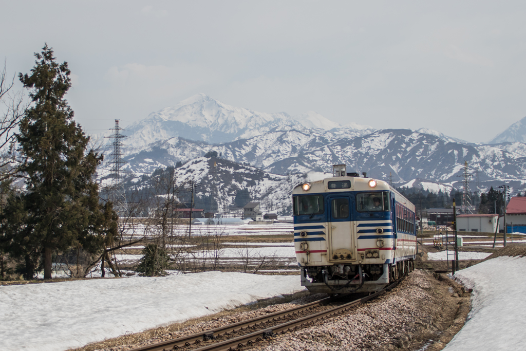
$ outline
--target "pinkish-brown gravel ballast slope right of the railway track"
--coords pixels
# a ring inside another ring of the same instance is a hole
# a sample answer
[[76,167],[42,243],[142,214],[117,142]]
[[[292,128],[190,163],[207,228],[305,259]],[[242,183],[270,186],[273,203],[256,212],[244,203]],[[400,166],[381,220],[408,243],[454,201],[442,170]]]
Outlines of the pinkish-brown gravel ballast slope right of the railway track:
[[440,282],[415,270],[391,292],[347,314],[277,336],[270,345],[254,349],[396,350],[427,345],[427,350],[439,350],[466,320],[469,297],[461,295],[460,286],[449,279]]

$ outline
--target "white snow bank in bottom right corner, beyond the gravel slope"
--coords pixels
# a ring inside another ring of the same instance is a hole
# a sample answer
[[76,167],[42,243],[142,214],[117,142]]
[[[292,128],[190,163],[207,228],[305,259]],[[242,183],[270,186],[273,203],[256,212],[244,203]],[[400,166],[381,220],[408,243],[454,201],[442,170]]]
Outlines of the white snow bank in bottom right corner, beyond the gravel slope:
[[472,288],[466,324],[444,351],[523,350],[526,257],[501,256],[459,270],[454,279]]

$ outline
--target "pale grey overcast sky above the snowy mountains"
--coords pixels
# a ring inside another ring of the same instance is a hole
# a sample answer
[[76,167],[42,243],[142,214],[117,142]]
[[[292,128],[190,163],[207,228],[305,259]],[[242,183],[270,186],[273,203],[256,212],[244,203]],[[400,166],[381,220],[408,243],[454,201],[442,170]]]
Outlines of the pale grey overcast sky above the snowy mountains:
[[33,53],[53,47],[72,70],[67,99],[88,134],[197,93],[470,142],[526,116],[524,2],[0,0],[0,8],[8,74],[29,73]]

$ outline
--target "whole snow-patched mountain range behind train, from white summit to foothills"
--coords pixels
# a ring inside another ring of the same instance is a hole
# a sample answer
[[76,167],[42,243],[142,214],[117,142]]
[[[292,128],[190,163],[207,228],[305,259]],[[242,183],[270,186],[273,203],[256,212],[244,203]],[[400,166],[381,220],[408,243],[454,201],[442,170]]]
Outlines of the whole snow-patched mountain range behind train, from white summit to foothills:
[[[126,127],[126,134],[120,151],[127,179],[181,162],[179,182],[203,178],[214,184],[204,192],[224,203],[247,187],[253,199],[285,208],[300,178],[323,178],[332,174],[333,164],[341,163],[348,172],[367,172],[395,186],[449,191],[461,188],[461,171],[468,162],[473,191],[508,184],[513,193],[526,186],[526,143],[482,145],[426,128],[340,126],[314,112],[294,118],[259,113],[204,94],[150,114]],[[107,139],[107,156],[99,167],[103,183],[112,168],[111,142]],[[210,151],[219,156],[214,167],[210,158],[203,158]]]

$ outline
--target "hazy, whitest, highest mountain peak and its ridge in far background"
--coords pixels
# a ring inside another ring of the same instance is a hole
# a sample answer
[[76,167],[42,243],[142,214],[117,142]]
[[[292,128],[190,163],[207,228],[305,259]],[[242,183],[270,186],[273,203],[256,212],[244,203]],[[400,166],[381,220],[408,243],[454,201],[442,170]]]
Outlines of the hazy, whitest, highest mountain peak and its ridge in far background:
[[[128,138],[124,143],[134,151],[145,146],[173,137],[220,144],[262,135],[275,127],[302,126],[329,130],[338,128],[332,122],[316,112],[306,112],[295,118],[285,112],[263,113],[242,107],[226,105],[205,94],[191,96],[175,106],[150,113],[125,128]],[[367,134],[371,127],[356,125],[351,132],[347,127],[343,133],[354,135]]]

